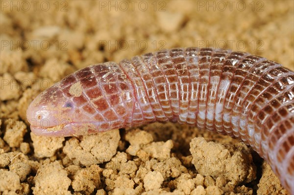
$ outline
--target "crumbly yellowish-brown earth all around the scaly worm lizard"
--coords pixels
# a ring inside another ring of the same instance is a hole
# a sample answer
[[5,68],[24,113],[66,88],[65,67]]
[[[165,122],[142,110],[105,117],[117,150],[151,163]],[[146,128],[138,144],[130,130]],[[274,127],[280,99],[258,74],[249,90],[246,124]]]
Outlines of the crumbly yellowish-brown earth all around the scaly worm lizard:
[[248,51],[294,70],[293,13],[292,0],[1,1],[0,193],[287,194],[228,136],[153,123],[47,138],[30,132],[25,112],[77,69],[159,49]]

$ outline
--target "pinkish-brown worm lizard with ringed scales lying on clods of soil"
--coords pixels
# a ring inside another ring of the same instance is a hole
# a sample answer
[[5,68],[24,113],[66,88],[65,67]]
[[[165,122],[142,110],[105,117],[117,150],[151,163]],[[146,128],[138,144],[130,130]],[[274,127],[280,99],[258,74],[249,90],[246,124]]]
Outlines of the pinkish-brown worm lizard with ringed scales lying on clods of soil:
[[170,49],[66,76],[27,109],[31,131],[73,136],[179,122],[250,145],[294,194],[294,72],[246,52]]

